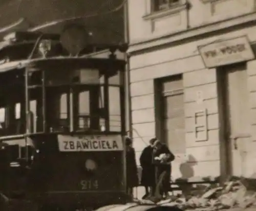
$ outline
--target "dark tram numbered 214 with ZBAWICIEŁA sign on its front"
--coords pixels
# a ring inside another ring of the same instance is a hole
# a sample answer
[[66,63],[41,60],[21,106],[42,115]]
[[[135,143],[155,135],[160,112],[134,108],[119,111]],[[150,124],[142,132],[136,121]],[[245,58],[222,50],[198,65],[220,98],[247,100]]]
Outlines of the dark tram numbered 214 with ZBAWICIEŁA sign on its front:
[[58,38],[31,37],[0,50],[0,193],[39,210],[125,203],[118,46],[88,58],[60,53]]

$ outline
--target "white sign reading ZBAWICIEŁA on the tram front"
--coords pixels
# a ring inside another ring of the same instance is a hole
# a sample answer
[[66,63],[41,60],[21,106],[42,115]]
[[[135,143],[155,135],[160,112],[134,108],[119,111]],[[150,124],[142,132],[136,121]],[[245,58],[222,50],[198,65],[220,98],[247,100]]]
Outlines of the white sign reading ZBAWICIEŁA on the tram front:
[[122,151],[121,136],[66,136],[58,135],[58,148],[61,152],[77,151]]

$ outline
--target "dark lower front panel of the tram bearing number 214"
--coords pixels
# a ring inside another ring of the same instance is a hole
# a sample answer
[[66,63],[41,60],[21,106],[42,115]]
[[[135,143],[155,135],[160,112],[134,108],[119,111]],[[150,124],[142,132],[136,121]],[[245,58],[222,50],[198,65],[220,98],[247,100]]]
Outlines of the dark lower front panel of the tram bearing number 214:
[[[94,140],[94,147],[89,151],[79,151],[80,147],[70,149],[63,146],[66,141],[60,141],[58,137],[62,135],[42,136],[41,140],[37,138],[35,142],[37,153],[27,183],[30,197],[39,196],[38,198],[44,198],[49,203],[62,204],[108,204],[108,201],[121,203],[127,200],[121,136],[80,136],[79,139],[67,136],[70,137],[70,141],[73,140],[71,142],[75,143],[78,140],[84,145],[90,137],[91,142]],[[120,148],[114,151],[109,148],[105,151],[96,151],[96,142],[99,142],[99,139],[110,145],[111,140],[112,143],[117,142],[114,146]]]

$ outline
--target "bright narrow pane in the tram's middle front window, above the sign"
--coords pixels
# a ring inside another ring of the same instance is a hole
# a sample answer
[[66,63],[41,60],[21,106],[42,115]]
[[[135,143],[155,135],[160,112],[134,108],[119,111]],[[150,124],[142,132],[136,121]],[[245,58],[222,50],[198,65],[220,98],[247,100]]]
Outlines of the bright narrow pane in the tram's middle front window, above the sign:
[[90,92],[88,90],[78,95],[78,128],[90,128]]

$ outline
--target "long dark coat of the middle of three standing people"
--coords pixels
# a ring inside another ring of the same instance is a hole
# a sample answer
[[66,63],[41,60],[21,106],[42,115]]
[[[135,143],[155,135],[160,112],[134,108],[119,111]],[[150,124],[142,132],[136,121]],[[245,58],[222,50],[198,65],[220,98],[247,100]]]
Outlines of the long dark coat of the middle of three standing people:
[[140,155],[140,166],[142,168],[141,185],[152,187],[155,184],[155,166],[152,163],[153,148],[147,146]]

